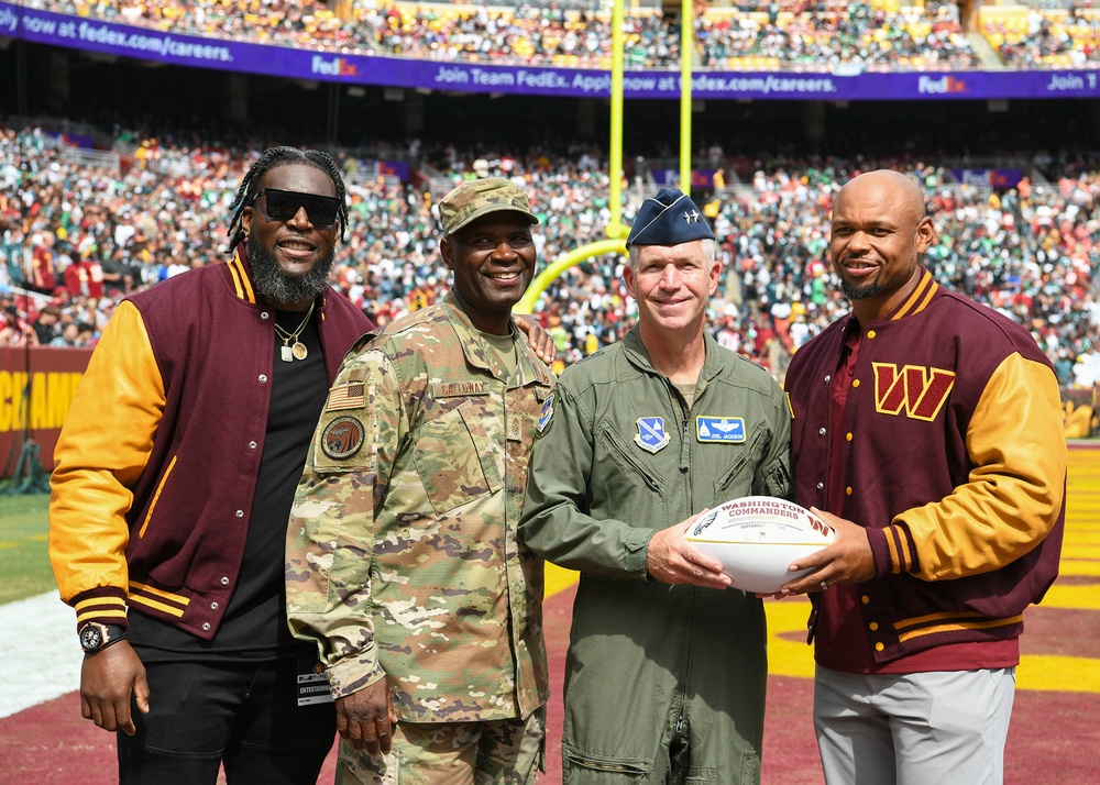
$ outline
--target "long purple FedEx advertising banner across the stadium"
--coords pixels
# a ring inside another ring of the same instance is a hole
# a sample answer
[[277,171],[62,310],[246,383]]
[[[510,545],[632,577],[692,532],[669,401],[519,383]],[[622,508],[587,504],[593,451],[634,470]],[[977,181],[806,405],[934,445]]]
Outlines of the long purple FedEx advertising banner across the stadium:
[[[484,65],[250,44],[162,33],[10,2],[0,2],[0,37],[173,65],[359,85],[607,98],[612,84],[609,71],[591,68]],[[680,75],[662,70],[627,71],[624,91],[627,98],[676,99],[680,97]],[[692,75],[692,96],[713,100],[828,101],[1097,98],[1100,97],[1100,71],[850,74],[846,68],[840,75],[698,70]]]

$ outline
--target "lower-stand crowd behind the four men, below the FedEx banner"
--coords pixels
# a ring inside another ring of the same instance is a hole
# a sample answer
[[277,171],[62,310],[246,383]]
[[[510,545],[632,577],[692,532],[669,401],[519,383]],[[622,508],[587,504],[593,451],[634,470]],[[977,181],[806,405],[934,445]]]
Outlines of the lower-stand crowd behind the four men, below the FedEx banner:
[[[127,292],[224,259],[228,207],[256,150],[163,140],[122,173],[64,155],[41,129],[0,129],[0,343],[87,345]],[[448,145],[422,155],[452,180],[501,175],[530,192],[544,263],[605,237],[608,175],[598,150]],[[339,159],[351,210],[332,285],[378,323],[436,301],[446,276],[430,190],[364,178],[361,162]],[[858,172],[888,166],[924,184],[939,229],[927,254],[937,278],[1027,324],[1064,384],[1091,386],[1100,380],[1100,161],[1042,163],[1049,184],[1025,177],[999,191],[953,184],[945,168],[906,159],[751,163],[743,187],[707,197],[727,270],[712,302],[715,336],[782,377],[790,353],[846,308],[828,266],[832,197]],[[631,188],[627,181],[636,196]],[[624,208],[627,222],[637,201]],[[634,323],[623,264],[617,254],[590,258],[554,280],[537,307],[564,363]],[[22,287],[33,294],[12,295]]]

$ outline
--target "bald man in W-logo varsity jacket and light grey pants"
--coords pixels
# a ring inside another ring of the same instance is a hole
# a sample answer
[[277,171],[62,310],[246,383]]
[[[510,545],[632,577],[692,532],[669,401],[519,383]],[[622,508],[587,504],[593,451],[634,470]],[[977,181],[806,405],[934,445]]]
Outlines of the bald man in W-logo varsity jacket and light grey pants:
[[851,312],[787,373],[795,500],[836,529],[813,593],[828,783],[998,783],[1023,611],[1054,582],[1066,445],[1025,329],[936,284],[917,185],[856,177],[831,254]]

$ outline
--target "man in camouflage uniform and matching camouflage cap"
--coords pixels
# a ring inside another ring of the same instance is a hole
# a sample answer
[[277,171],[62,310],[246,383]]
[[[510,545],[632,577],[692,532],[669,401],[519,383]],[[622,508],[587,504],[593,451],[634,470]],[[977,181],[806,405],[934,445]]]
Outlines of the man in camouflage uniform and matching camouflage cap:
[[538,219],[502,178],[439,213],[451,291],[344,360],[292,510],[287,618],[327,668],[338,782],[541,767],[542,561],[516,529],[552,378],[510,316]]

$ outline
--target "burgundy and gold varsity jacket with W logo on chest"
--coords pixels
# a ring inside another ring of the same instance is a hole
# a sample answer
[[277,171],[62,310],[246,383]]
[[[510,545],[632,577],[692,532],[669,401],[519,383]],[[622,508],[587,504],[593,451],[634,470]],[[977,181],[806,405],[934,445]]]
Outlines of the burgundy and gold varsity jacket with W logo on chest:
[[880,664],[1018,638],[1057,576],[1065,523],[1049,360],[1024,328],[921,275],[895,313],[861,325],[843,465],[829,465],[829,407],[851,314],[802,346],[785,380],[795,501],[827,509],[840,472],[843,517],[867,529],[877,576],[856,605]]

